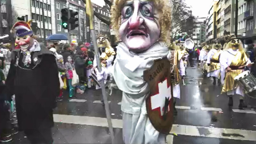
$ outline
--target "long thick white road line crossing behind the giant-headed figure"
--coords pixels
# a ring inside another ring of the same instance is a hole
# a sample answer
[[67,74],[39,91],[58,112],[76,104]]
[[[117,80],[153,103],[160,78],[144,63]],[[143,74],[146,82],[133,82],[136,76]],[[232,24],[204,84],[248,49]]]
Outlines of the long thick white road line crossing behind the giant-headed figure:
[[[90,116],[72,116],[72,115],[53,115],[54,122],[62,122],[68,124],[86,124],[93,126],[108,127],[107,118],[90,117]],[[114,128],[122,128],[123,121],[121,119],[112,119]],[[216,127],[202,127],[193,125],[173,124],[170,133],[180,135],[223,138],[233,140],[252,140],[256,141],[256,131],[240,130],[240,129],[225,129]]]

